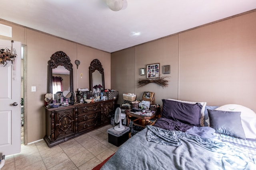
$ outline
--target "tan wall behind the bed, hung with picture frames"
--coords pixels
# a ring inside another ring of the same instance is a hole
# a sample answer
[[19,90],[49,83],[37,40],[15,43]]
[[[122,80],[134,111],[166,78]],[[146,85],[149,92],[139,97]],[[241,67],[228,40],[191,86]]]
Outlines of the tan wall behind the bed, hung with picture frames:
[[[217,106],[241,104],[256,111],[255,18],[252,12],[112,53],[111,85],[121,92],[118,103],[124,92],[135,92],[141,99],[150,91],[157,104],[174,98]],[[160,76],[170,76],[169,86],[150,83],[137,88],[139,78],[146,78],[139,68],[154,63],[160,63]],[[170,74],[162,74],[162,66],[169,64]]]

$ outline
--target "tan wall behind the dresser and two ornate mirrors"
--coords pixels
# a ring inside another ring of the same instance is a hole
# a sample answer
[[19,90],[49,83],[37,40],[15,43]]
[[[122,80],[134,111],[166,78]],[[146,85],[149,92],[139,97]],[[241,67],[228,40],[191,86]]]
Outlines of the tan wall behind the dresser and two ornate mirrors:
[[[48,93],[47,62],[56,51],[64,51],[70,57],[74,72],[74,90],[89,88],[88,68],[93,59],[99,59],[102,63],[105,71],[105,86],[106,88],[111,88],[110,53],[46,35],[6,21],[0,21],[0,23],[12,26],[12,38],[0,36],[0,39],[20,41],[27,46],[27,59],[25,60],[27,63],[25,63],[24,68],[26,70],[24,75],[26,80],[24,82],[27,82],[25,84],[27,99],[24,100],[26,102],[25,106],[27,106],[24,108],[27,113],[25,117],[27,143],[42,139],[45,135],[45,111],[43,105],[44,95]],[[80,60],[78,70],[74,63],[76,59]],[[83,73],[82,78],[80,78],[80,73]],[[36,92],[31,92],[31,86],[36,86]]]

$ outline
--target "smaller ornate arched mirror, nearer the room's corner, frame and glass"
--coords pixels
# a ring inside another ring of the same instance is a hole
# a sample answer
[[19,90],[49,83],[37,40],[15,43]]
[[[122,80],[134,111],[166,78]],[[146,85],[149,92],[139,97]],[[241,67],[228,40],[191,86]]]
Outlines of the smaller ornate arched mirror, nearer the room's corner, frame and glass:
[[89,66],[89,79],[91,91],[93,91],[94,86],[99,84],[102,85],[102,90],[105,89],[104,69],[98,59],[94,59]]

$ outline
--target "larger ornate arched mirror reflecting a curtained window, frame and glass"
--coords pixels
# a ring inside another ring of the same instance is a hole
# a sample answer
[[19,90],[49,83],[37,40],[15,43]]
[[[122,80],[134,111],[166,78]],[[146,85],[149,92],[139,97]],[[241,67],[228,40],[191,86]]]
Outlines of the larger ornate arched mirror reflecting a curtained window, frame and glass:
[[[73,68],[72,63],[70,62],[69,57],[63,51],[57,51],[48,61],[49,68],[49,91],[52,94],[55,94],[56,91],[70,91],[73,92]],[[61,82],[61,83],[59,83]],[[60,88],[55,89],[56,84]],[[61,89],[61,90],[60,90]]]

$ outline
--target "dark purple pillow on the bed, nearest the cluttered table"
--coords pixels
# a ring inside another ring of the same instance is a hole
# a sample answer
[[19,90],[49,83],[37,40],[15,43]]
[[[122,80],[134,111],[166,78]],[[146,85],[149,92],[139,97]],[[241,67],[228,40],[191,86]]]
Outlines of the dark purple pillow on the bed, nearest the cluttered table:
[[201,104],[188,104],[165,99],[162,99],[162,102],[162,117],[188,125],[200,126]]

